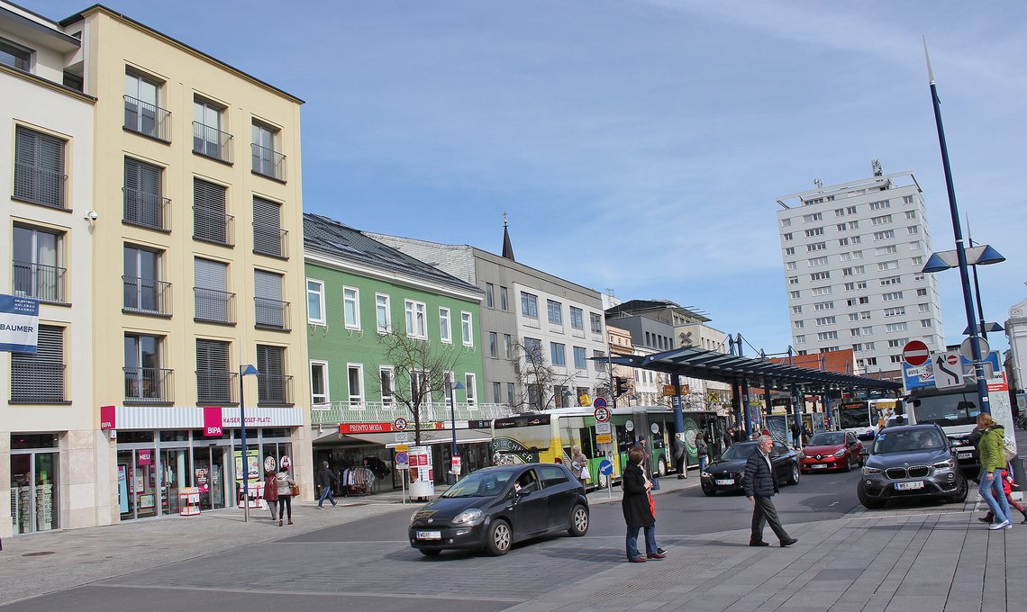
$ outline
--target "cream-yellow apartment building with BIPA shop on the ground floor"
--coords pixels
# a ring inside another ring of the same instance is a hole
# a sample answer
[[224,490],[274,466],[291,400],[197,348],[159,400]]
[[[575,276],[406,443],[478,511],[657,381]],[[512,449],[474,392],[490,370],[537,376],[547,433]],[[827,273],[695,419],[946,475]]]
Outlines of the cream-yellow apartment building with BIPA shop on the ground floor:
[[302,101],[103,6],[60,26],[80,41],[65,81],[96,99],[91,255],[76,259],[91,343],[75,364],[108,447],[92,524],[178,513],[187,488],[200,508],[236,505],[243,471],[254,489],[284,456],[311,491]]

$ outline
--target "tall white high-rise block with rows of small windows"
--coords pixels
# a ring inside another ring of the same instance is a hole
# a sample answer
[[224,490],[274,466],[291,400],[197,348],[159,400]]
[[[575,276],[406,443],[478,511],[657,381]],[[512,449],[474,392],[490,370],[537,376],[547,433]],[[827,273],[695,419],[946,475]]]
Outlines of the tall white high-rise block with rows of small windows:
[[800,354],[852,348],[868,376],[901,378],[902,349],[945,348],[926,204],[911,173],[777,198],[792,342]]

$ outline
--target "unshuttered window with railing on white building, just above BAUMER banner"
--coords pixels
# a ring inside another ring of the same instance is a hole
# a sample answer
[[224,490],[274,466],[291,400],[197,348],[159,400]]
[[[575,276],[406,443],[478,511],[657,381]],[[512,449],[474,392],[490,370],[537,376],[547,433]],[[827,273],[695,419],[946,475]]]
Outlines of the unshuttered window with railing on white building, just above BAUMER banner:
[[64,234],[15,225],[11,248],[11,285],[15,296],[64,304]]

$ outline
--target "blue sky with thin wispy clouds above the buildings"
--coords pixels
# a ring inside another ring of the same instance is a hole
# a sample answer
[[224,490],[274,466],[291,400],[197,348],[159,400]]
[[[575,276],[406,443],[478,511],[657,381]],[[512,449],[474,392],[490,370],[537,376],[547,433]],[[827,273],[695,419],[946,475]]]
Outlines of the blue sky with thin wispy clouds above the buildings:
[[[1007,258],[981,269],[985,315],[1027,296],[1022,2],[106,4],[306,101],[306,211],[494,253],[506,211],[518,261],[694,306],[767,352],[791,341],[777,196],[880,159],[954,247],[925,35],[960,212]],[[939,286],[955,343],[958,272]]]

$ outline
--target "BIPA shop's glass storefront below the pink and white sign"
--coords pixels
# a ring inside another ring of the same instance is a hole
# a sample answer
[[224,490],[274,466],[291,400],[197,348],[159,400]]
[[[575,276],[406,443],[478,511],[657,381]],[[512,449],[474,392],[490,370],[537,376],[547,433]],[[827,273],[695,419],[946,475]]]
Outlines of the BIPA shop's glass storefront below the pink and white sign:
[[[291,431],[248,427],[246,447],[259,464],[273,457],[277,465],[282,455],[291,456]],[[201,510],[237,505],[242,490],[240,451],[238,429],[226,429],[222,437],[205,437],[201,429],[118,431],[121,520],[177,514],[183,487],[199,489]],[[262,471],[261,467],[256,479],[251,476],[251,487],[262,480]]]

